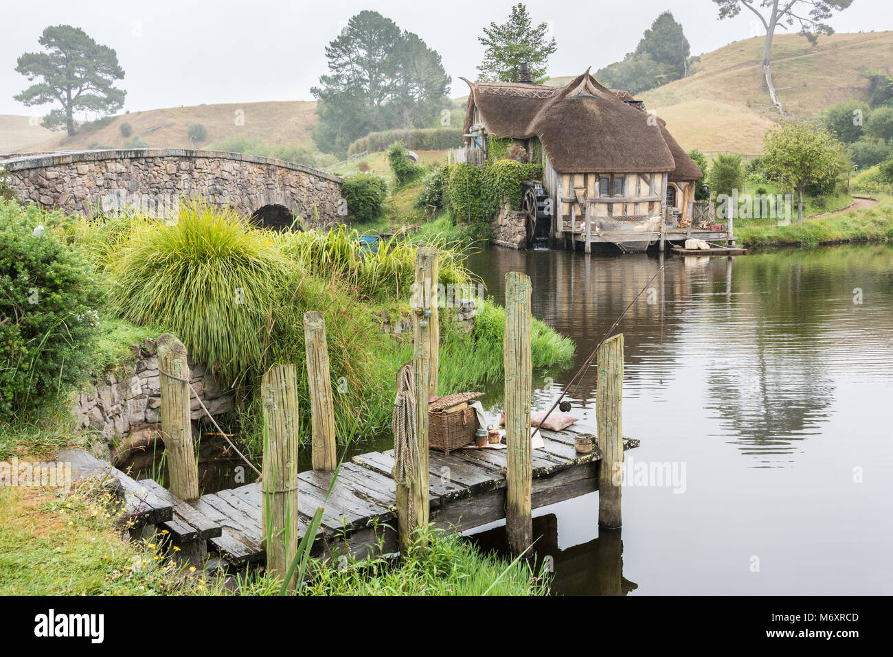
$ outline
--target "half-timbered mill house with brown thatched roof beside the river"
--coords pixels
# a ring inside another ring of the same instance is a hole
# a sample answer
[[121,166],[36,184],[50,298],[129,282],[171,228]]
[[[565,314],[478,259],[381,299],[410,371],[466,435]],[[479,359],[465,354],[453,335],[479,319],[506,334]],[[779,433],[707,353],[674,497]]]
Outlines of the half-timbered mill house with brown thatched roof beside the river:
[[540,210],[555,212],[538,213],[536,232],[587,251],[594,242],[663,247],[690,235],[703,174],[629,92],[599,84],[589,71],[564,87],[536,85],[523,66],[517,82],[465,82],[466,148],[457,159],[484,162],[492,140],[510,138],[522,161],[542,163]]

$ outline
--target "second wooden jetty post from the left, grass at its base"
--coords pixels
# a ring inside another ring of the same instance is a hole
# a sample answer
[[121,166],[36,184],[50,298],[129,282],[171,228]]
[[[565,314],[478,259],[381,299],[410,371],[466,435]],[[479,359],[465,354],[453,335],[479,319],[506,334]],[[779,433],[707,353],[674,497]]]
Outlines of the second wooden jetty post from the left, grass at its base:
[[[297,369],[276,365],[261,379],[263,484],[261,515],[267,570],[282,577],[297,553]],[[295,586],[294,578],[288,583]]]

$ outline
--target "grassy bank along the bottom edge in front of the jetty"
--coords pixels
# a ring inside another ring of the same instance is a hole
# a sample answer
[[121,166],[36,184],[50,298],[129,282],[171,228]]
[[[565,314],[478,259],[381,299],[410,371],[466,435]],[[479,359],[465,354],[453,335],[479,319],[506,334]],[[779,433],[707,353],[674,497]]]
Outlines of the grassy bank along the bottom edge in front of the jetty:
[[[27,453],[20,454],[28,461]],[[48,458],[46,454],[41,459]],[[165,536],[122,538],[113,498],[95,482],[70,491],[0,487],[0,595],[276,595],[262,572],[206,572],[180,564]],[[301,595],[547,595],[527,562],[478,552],[432,532],[403,559],[313,559]]]

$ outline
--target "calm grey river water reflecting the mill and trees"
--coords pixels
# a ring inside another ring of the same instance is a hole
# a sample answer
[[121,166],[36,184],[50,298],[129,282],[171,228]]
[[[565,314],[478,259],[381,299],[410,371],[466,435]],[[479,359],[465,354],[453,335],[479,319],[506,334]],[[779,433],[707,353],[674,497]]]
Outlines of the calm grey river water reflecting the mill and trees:
[[[555,593],[893,593],[893,248],[665,262],[618,329],[623,433],[641,440],[628,462],[677,480],[628,481],[619,537],[599,539],[597,494],[535,510]],[[501,248],[470,262],[500,303],[505,272],[529,274],[534,315],[573,338],[577,367],[660,264]],[[567,397],[593,426],[595,387],[593,368]]]

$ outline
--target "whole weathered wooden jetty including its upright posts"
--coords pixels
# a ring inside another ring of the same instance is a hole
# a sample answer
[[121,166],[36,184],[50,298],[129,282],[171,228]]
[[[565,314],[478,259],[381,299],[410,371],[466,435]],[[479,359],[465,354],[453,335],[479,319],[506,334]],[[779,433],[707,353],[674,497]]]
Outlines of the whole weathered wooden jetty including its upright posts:
[[[599,526],[620,528],[623,453],[638,446],[637,440],[622,435],[623,336],[613,336],[598,347],[597,427],[543,429],[544,446],[534,450],[531,286],[530,278],[522,273],[506,276],[505,449],[458,449],[449,455],[429,450],[426,401],[438,389],[437,261],[436,250],[418,250],[413,361],[398,374],[395,448],[384,453],[366,453],[340,464],[335,461],[333,400],[324,394],[331,386],[325,322],[319,313],[308,312],[305,348],[312,388],[313,470],[297,472],[301,410],[296,365],[275,365],[261,382],[260,483],[199,496],[186,350],[176,337],[160,337],[159,345],[164,345],[164,350],[159,349],[164,356],[159,367],[161,416],[171,490],[152,479],[134,481],[118,470],[111,471],[131,535],[160,531],[178,548],[175,552],[190,561],[204,561],[211,552],[236,567],[265,560],[268,570],[286,574],[294,572],[288,566],[295,562],[297,545],[310,531],[313,541],[307,543],[312,554],[352,553],[362,558],[370,553],[405,553],[415,541],[427,540],[432,525],[463,531],[505,519],[510,550],[526,553],[536,539],[531,528],[533,509],[594,491],[599,491]],[[577,452],[580,430],[588,434],[591,452]],[[597,440],[592,441],[593,437]]]

